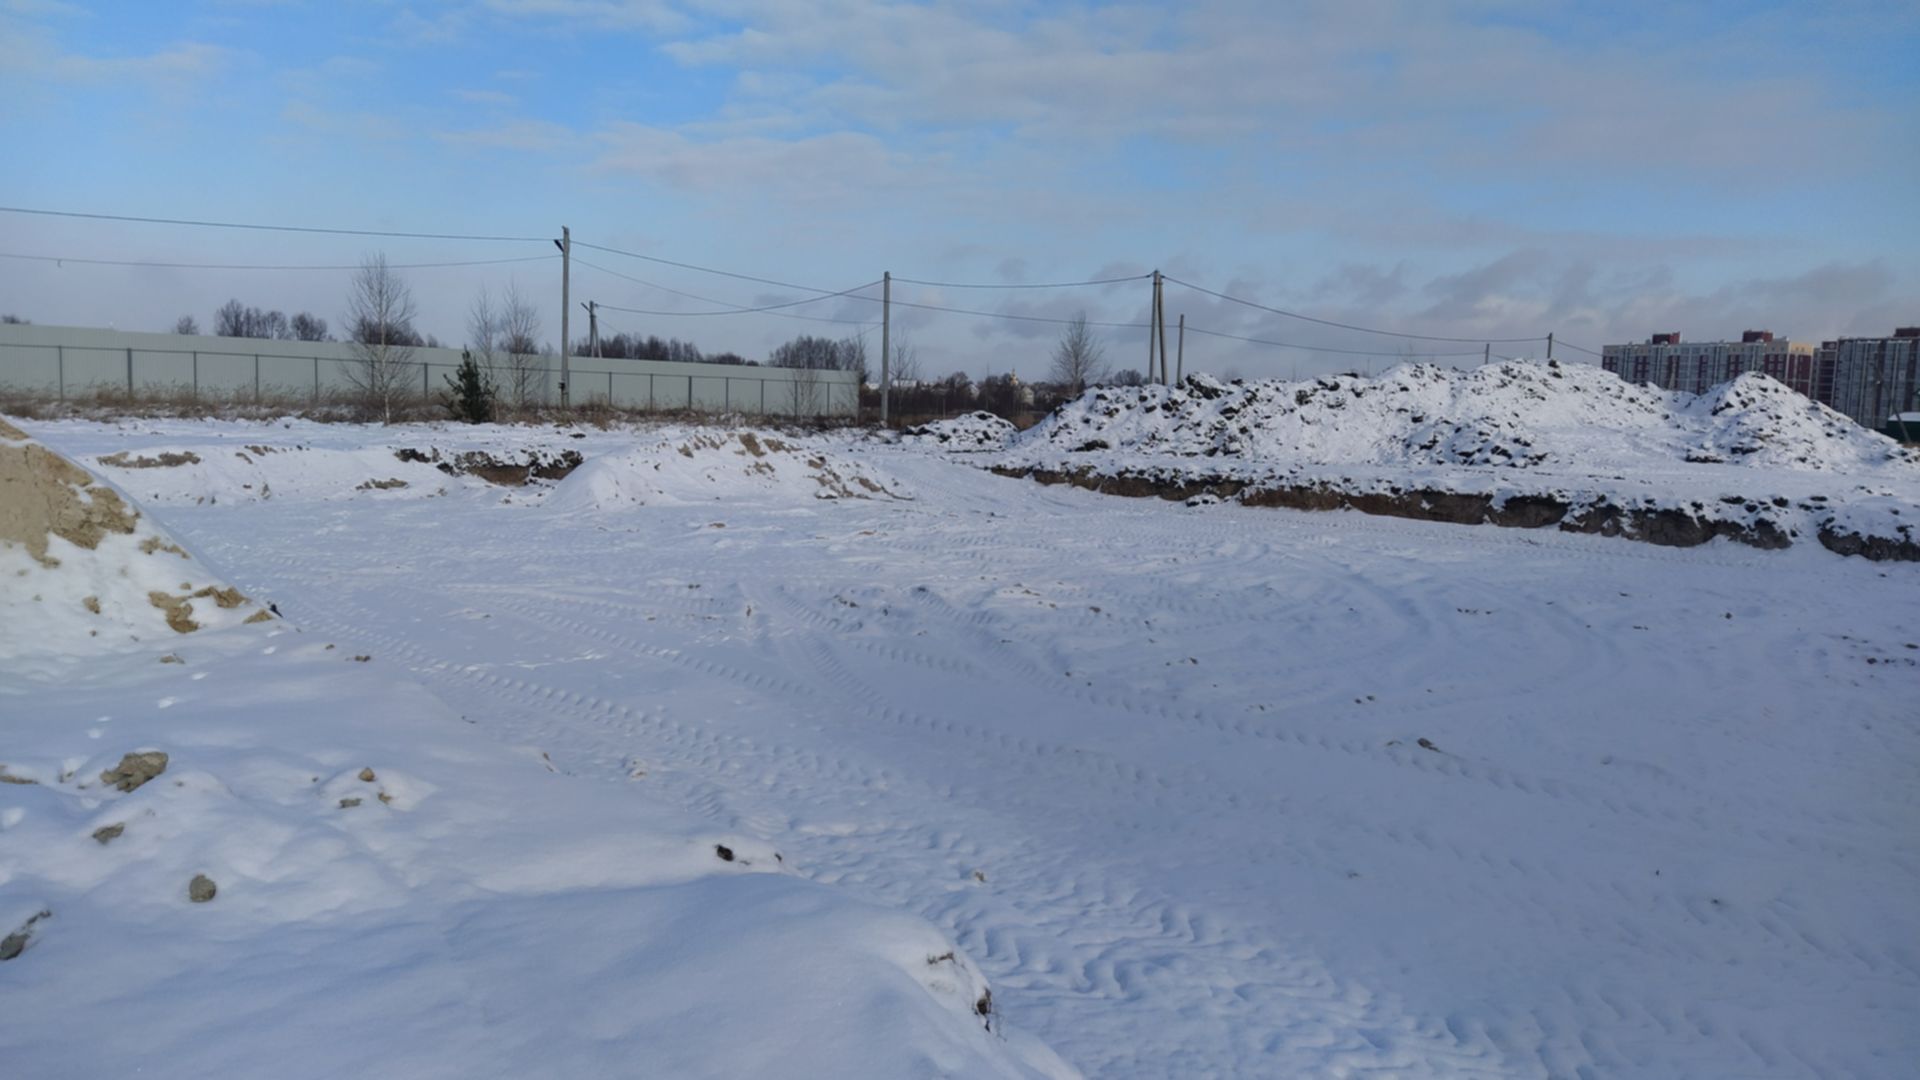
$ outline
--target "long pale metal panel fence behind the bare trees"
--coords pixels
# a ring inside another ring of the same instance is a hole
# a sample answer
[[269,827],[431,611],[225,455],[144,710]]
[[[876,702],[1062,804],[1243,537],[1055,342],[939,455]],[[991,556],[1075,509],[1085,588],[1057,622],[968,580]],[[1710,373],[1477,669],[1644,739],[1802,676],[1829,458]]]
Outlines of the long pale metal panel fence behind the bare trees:
[[[219,402],[330,402],[351,398],[359,359],[344,342],[284,342],[150,334],[88,327],[0,325],[0,390],[48,398],[102,392],[188,394]],[[445,388],[461,350],[417,348],[407,365],[426,398]],[[530,405],[559,404],[559,357],[538,357]],[[572,357],[572,402],[632,409],[852,417],[858,382],[849,371],[793,371],[726,363]]]

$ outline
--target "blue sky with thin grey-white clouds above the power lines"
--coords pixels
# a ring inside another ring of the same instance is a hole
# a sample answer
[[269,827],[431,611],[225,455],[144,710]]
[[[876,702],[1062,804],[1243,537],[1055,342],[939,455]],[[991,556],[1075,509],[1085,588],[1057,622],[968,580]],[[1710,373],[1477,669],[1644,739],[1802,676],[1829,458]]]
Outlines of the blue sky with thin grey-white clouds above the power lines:
[[[1916,4],[1478,0],[0,0],[0,204],[574,236],[785,282],[1144,273],[1407,332],[1795,340],[1920,323]],[[0,213],[0,252],[396,263],[551,246]],[[803,292],[580,252],[574,298],[705,309]],[[422,329],[559,265],[409,271]],[[1135,323],[1146,286],[935,306]],[[338,319],[340,271],[0,258],[0,309],[165,329],[230,296]],[[856,300],[801,307],[872,321]],[[1192,367],[1384,365],[1413,344],[1167,286]],[[578,321],[576,321],[578,325]],[[852,323],[609,313],[764,356]],[[927,373],[1039,375],[1058,327],[899,309]],[[1104,331],[1144,361],[1139,331]],[[1496,346],[1496,352],[1500,348]],[[1574,354],[1578,356],[1578,354]]]

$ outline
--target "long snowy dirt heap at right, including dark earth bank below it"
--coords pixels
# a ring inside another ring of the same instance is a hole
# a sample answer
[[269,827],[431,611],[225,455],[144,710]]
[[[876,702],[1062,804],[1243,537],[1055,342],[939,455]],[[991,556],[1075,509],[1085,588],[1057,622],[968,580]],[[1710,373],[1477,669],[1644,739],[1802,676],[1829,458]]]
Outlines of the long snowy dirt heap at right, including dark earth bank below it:
[[1920,559],[1920,454],[1759,377],[1584,365],[1091,390],[987,467],[1114,494]]

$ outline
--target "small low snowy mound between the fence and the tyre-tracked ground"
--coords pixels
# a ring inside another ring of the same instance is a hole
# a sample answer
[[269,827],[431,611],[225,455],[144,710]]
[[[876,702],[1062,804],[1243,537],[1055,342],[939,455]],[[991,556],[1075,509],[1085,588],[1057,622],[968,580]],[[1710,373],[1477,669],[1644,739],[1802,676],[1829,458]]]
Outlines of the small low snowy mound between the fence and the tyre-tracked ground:
[[753,430],[666,430],[637,446],[589,457],[545,505],[557,511],[628,509],[732,496],[793,500],[908,500],[899,480],[841,450],[839,440]]

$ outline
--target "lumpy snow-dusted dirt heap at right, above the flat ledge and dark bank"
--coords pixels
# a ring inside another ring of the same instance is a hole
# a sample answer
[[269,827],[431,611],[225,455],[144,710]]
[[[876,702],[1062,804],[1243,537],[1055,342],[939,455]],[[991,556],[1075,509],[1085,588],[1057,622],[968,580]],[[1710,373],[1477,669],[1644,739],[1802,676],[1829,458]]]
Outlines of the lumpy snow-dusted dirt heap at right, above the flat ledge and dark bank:
[[1062,405],[1016,446],[1315,465],[1920,465],[1920,454],[1763,375],[1695,398],[1561,363],[1475,371],[1411,363],[1379,379],[1219,382],[1196,375],[1179,386],[1108,386]]

